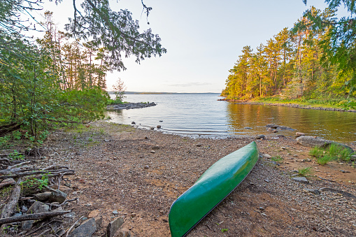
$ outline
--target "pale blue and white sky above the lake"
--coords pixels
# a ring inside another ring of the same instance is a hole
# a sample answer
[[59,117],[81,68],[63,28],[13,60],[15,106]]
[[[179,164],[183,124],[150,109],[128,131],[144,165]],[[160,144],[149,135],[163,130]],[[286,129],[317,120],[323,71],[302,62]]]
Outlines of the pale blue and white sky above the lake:
[[[323,0],[309,0],[307,6],[302,0],[144,0],[152,7],[147,20],[141,0],[109,1],[112,10],[130,10],[141,30],[159,34],[167,50],[141,64],[135,58],[123,59],[126,71],[108,73],[108,91],[120,78],[130,92],[220,93],[245,45],[255,49],[293,27],[310,6],[326,7]],[[71,0],[44,7],[53,12],[59,29],[73,17]]]

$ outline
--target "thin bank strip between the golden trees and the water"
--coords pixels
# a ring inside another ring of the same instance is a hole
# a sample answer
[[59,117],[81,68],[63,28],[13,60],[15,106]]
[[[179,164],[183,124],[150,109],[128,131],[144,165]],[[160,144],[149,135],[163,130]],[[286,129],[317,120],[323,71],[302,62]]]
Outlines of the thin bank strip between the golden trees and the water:
[[285,107],[292,107],[292,108],[302,108],[302,109],[309,109],[309,110],[329,110],[329,111],[339,111],[339,112],[351,112],[356,113],[356,110],[343,110],[342,108],[327,108],[327,107],[320,107],[320,106],[304,106],[298,103],[276,103],[276,102],[255,102],[255,101],[241,101],[236,99],[218,99],[218,101],[229,101],[229,102],[238,102],[237,104],[254,104],[260,106],[285,106]]

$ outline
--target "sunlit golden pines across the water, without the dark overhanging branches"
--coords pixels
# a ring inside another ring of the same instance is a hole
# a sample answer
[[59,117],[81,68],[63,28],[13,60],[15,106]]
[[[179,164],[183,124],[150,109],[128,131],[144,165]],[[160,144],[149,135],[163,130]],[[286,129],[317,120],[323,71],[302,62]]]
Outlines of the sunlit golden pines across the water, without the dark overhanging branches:
[[[311,8],[308,14],[322,16],[330,22],[334,10],[320,12]],[[356,96],[353,73],[340,70],[343,62],[333,62],[332,27],[321,24],[318,29],[305,27],[310,20],[302,17],[294,29],[287,28],[256,50],[243,47],[234,68],[229,70],[222,96],[227,99],[253,99],[280,96],[283,99],[341,99]],[[301,27],[304,26],[304,27]],[[355,38],[355,37],[354,37]],[[328,48],[329,47],[329,48]]]

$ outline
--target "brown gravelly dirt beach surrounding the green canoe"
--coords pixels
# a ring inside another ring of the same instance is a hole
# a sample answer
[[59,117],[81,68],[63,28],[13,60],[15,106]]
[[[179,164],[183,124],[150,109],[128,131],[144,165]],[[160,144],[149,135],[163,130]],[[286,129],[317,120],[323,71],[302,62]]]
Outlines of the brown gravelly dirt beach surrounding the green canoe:
[[[215,161],[251,141],[191,139],[95,122],[57,131],[44,146],[48,163],[76,170],[71,189],[65,187],[69,198],[80,199],[71,208],[76,217],[90,213],[103,217],[97,236],[118,216],[125,217],[123,227],[131,236],[170,236],[171,203]],[[355,168],[334,161],[319,166],[294,138],[269,136],[257,145],[262,158],[248,178],[188,236],[355,235],[356,199],[305,190],[331,187],[356,196]],[[276,162],[268,155],[282,159]],[[294,170],[305,167],[313,171],[309,183],[292,181]]]

